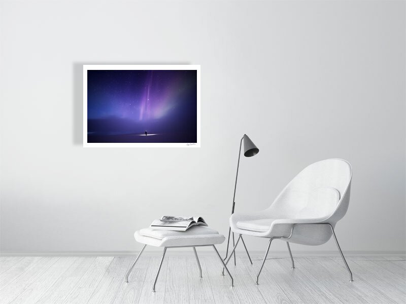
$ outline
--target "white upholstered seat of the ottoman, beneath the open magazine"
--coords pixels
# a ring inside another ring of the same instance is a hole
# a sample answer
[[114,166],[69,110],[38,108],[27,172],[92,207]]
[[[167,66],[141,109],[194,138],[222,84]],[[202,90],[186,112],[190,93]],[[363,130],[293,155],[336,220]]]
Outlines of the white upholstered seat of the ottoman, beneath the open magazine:
[[216,230],[203,226],[192,226],[187,231],[141,229],[134,234],[137,242],[156,247],[215,245],[225,237]]

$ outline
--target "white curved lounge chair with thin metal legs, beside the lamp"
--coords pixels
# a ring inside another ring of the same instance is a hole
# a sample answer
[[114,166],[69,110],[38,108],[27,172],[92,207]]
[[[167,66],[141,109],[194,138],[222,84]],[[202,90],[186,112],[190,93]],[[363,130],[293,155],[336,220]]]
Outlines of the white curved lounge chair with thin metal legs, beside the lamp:
[[[286,242],[294,268],[289,242],[303,245],[322,245],[331,235],[350,273],[347,261],[334,233],[334,226],[346,214],[350,201],[352,168],[341,159],[329,159],[303,169],[282,190],[269,208],[249,213],[234,213],[230,217],[231,230],[239,234],[235,251],[242,235],[268,238],[269,243],[256,284],[269,251],[270,243],[278,239]],[[223,269],[224,274],[224,269]]]

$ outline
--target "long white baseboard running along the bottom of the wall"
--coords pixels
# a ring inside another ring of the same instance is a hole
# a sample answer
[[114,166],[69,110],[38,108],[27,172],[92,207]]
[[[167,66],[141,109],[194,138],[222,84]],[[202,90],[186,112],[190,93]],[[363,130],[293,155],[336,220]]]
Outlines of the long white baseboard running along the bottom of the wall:
[[[0,256],[133,256],[139,251],[34,251],[34,252],[0,252]],[[225,251],[219,251],[221,256],[225,256]],[[250,251],[252,256],[262,256],[263,251]],[[192,250],[179,250],[168,248],[167,255],[172,256],[193,256]],[[198,250],[201,256],[212,256],[212,250]],[[246,256],[245,251],[236,251],[237,255]],[[339,256],[337,251],[292,251],[294,257],[318,257],[318,256]],[[144,256],[161,256],[162,250],[144,251]],[[406,251],[344,251],[345,256],[402,256],[406,257]],[[289,256],[288,251],[272,251],[269,257]]]

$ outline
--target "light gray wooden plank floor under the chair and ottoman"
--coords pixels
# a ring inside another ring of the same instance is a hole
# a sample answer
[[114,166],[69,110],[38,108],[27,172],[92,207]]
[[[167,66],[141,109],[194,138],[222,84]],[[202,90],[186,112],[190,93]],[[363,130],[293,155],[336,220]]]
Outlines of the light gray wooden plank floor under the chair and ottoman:
[[353,283],[340,258],[269,259],[257,286],[260,257],[241,257],[230,288],[216,256],[200,257],[199,279],[193,256],[168,255],[153,293],[159,259],[141,257],[124,283],[133,257],[0,257],[0,303],[406,303],[404,257],[348,257]]

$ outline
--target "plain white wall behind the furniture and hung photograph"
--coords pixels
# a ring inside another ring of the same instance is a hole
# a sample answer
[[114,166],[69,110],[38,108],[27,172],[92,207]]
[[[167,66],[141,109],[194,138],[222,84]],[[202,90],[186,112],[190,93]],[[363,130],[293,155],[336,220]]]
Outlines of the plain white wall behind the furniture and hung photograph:
[[[202,215],[226,234],[244,133],[260,153],[242,159],[237,211],[344,158],[343,249],[405,250],[404,12],[403,1],[2,1],[1,250],[138,250],[133,232],[162,214]],[[200,64],[202,147],[83,148],[91,63]]]

